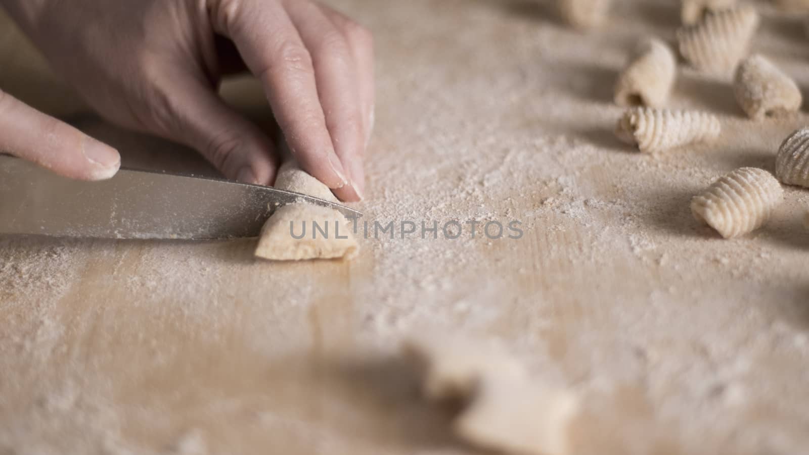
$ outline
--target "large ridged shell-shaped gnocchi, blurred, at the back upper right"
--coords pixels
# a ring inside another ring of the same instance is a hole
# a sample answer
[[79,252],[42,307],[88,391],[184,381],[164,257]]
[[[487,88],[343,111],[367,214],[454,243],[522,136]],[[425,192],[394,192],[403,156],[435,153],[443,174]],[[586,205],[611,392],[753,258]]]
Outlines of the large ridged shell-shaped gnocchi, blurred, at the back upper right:
[[748,53],[759,21],[756,9],[749,5],[708,15],[677,31],[680,54],[697,70],[730,74]]

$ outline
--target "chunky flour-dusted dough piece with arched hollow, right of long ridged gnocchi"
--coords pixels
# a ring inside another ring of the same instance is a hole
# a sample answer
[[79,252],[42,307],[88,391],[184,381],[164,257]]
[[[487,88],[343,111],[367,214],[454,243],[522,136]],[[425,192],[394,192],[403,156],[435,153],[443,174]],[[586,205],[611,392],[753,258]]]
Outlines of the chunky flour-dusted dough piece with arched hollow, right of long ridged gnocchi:
[[758,54],[739,65],[733,90],[739,106],[755,120],[798,112],[803,102],[798,84]]

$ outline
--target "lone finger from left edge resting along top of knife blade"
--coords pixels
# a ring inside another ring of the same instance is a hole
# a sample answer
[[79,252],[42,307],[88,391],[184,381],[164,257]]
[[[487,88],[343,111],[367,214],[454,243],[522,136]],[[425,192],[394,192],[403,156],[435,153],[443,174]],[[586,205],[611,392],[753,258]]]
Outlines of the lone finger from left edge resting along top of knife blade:
[[121,167],[121,155],[109,145],[2,91],[0,152],[28,159],[72,179],[109,179]]

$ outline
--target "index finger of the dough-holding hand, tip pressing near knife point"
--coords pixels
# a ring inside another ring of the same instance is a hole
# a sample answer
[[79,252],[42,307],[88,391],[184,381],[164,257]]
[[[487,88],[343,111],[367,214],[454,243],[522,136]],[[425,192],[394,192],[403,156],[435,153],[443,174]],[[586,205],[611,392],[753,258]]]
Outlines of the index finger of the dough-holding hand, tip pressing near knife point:
[[212,1],[216,32],[229,36],[265,88],[290,150],[304,170],[337,196],[347,173],[334,151],[317,95],[314,68],[289,15],[279,2]]

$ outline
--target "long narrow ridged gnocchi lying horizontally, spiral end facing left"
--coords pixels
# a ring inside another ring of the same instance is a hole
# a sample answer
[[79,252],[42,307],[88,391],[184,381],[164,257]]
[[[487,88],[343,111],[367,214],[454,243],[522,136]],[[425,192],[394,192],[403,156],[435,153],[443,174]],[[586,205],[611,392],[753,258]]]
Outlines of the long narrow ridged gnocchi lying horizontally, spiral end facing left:
[[618,120],[616,136],[637,145],[644,153],[657,153],[694,142],[710,141],[721,131],[716,116],[706,112],[633,107]]

